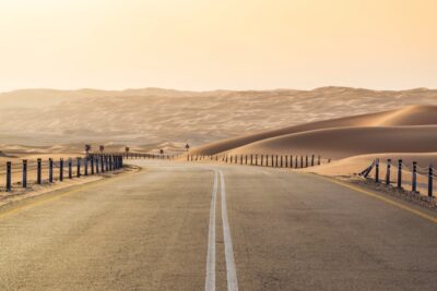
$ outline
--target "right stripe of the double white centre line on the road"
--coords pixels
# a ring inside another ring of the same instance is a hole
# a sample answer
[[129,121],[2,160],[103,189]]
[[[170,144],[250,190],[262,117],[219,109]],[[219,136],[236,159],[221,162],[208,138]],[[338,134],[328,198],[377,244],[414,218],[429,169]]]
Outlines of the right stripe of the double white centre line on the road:
[[235,268],[229,221],[227,219],[225,178],[222,170],[220,170],[220,180],[221,180],[221,192],[222,192],[222,219],[223,219],[223,237],[225,242],[227,290],[237,291],[238,290],[237,271]]

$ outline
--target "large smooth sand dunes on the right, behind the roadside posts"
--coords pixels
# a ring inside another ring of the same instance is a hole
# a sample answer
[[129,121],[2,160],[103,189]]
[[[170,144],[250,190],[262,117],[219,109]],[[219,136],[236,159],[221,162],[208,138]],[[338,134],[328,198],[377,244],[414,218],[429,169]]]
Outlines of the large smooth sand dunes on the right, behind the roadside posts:
[[344,158],[369,153],[437,151],[437,128],[418,126],[433,124],[437,125],[437,106],[409,106],[231,138],[201,146],[192,154],[231,150],[232,154],[296,153]]

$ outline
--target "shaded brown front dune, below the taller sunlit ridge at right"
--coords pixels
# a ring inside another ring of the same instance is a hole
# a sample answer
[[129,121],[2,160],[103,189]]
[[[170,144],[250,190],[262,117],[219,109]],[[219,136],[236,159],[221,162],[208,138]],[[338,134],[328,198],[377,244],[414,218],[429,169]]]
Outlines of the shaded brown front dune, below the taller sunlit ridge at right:
[[432,153],[437,150],[437,125],[339,128],[272,137],[229,154],[317,154],[341,159],[377,153]]

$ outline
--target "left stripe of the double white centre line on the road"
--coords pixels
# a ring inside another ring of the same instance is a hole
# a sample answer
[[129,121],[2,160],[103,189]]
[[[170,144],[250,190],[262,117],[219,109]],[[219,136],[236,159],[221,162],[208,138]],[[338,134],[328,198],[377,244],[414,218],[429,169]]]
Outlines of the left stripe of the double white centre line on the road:
[[214,186],[210,210],[210,232],[208,234],[206,280],[205,290],[215,290],[215,205],[217,199],[218,174],[214,171]]

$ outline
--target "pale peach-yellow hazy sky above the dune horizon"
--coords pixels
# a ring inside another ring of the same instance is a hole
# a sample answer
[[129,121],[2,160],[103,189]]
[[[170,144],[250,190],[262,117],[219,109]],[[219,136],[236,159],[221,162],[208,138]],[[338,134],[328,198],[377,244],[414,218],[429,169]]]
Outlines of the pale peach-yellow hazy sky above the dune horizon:
[[436,0],[0,0],[0,90],[437,88]]

